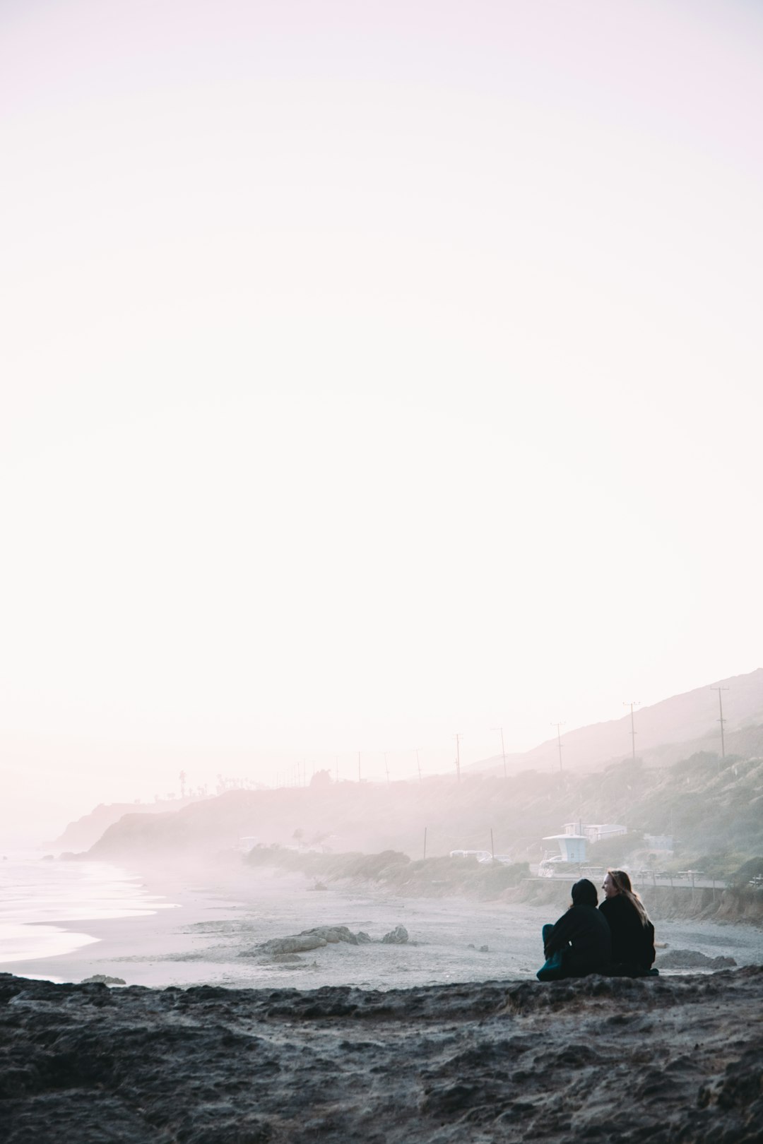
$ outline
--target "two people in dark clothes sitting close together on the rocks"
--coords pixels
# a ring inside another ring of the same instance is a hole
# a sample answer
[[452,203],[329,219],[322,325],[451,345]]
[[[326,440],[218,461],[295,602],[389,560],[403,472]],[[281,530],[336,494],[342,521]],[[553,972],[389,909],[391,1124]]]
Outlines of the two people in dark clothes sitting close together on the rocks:
[[[537,974],[541,982],[605,974],[609,977],[645,977],[657,974],[654,927],[625,871],[609,869],[604,901],[598,906],[596,887],[582,877],[572,887],[572,905],[554,925],[543,925],[546,964]],[[598,906],[598,908],[597,908]]]

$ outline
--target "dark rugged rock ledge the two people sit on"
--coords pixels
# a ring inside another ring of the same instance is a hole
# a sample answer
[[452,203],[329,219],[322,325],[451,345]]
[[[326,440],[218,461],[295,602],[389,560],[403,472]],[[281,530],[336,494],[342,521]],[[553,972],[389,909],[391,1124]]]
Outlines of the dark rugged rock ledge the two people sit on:
[[758,1144],[763,967],[162,991],[0,975],[2,1144]]

